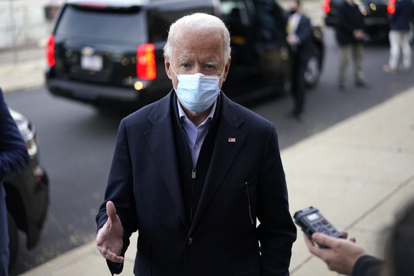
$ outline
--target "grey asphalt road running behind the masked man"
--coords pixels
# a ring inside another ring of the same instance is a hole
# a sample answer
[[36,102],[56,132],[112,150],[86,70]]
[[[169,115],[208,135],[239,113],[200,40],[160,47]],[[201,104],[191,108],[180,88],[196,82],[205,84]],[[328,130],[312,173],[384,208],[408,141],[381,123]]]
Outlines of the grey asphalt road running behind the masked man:
[[[365,47],[363,64],[371,89],[354,87],[350,66],[346,90],[340,92],[336,87],[339,48],[331,29],[327,28],[325,34],[323,75],[319,85],[307,93],[304,122],[285,117],[292,107],[288,95],[248,105],[275,124],[282,149],[414,85],[413,73],[383,73],[388,45],[371,43]],[[20,253],[11,271],[11,275],[18,275],[95,239],[95,215],[102,202],[123,115],[104,114],[87,105],[53,97],[45,87],[9,93],[6,102],[36,124],[41,164],[51,183],[51,206],[40,243],[28,251],[21,235]]]

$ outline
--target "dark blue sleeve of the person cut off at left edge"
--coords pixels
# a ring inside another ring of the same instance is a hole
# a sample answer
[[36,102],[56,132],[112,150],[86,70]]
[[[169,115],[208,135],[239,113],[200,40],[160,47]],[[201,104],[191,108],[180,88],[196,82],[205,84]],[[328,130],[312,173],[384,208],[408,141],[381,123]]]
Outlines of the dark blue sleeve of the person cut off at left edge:
[[0,182],[26,168],[28,152],[0,89]]

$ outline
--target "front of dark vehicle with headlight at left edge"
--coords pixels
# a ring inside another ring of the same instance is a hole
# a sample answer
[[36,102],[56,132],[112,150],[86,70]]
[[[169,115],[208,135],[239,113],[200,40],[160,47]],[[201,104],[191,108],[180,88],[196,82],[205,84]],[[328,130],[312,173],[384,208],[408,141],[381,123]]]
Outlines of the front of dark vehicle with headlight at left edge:
[[39,164],[39,144],[35,127],[20,113],[14,110],[10,110],[10,113],[26,142],[30,157],[26,169],[3,182],[9,211],[9,267],[12,267],[18,254],[18,230],[26,233],[28,249],[38,243],[48,210],[49,187],[46,171]]

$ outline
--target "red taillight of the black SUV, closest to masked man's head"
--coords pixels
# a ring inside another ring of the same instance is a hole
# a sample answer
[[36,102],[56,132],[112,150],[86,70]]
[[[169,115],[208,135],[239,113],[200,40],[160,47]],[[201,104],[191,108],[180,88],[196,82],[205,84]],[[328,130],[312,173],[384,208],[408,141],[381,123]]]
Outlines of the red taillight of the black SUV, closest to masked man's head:
[[154,44],[145,43],[137,48],[137,77],[142,80],[154,80],[156,64]]

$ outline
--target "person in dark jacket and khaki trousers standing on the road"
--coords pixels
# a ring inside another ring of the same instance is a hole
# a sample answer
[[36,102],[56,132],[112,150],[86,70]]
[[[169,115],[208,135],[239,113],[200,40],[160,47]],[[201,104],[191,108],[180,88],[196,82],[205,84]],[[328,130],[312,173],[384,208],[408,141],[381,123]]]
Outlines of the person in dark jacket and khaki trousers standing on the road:
[[338,23],[336,25],[336,41],[341,48],[339,58],[339,90],[345,89],[345,71],[352,57],[354,61],[355,85],[368,87],[363,77],[362,58],[363,58],[363,37],[365,23],[359,7],[352,0],[344,0],[338,8]]

